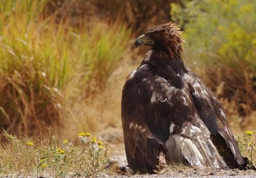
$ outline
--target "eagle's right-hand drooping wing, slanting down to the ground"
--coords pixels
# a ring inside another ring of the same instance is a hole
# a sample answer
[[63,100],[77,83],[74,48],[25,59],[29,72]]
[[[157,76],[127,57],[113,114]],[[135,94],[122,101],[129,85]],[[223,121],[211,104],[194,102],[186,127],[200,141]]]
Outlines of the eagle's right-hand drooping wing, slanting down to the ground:
[[[225,160],[231,160],[232,164],[230,167],[240,167],[239,165],[243,165],[244,163],[243,156],[239,151],[237,142],[228,126],[227,116],[223,106],[220,101],[216,99],[214,93],[207,89],[207,87],[205,87],[205,85],[202,84],[190,70],[188,71],[189,72],[186,75],[189,76],[187,78],[191,79],[189,80],[192,90],[191,93],[195,107],[200,115],[200,119],[202,119],[205,126],[207,126],[211,132],[213,142],[218,143],[216,144],[216,147],[218,147],[219,150],[221,147],[221,149],[224,149],[226,153],[228,152],[229,158],[225,158]],[[214,140],[216,138],[220,139],[220,137],[222,137],[225,142]],[[230,155],[229,152],[233,155]],[[221,153],[221,155],[225,157],[226,153]]]

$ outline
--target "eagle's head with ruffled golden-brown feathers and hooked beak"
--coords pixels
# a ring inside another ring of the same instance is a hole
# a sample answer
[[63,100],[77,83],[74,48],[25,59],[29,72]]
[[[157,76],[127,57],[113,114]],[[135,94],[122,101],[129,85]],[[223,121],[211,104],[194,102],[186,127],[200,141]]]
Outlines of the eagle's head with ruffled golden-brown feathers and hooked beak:
[[181,34],[179,27],[170,22],[156,26],[138,37],[135,46],[147,45],[156,52],[168,53],[171,57],[180,57],[180,53],[183,51],[182,44],[184,43]]

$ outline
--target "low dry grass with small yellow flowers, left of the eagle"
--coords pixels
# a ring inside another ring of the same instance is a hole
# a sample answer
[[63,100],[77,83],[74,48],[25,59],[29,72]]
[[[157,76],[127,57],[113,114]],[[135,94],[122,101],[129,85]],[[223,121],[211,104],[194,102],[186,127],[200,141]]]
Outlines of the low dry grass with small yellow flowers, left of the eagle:
[[89,133],[61,141],[51,133],[42,138],[15,137],[4,131],[0,145],[0,175],[95,177],[107,172],[107,145]]

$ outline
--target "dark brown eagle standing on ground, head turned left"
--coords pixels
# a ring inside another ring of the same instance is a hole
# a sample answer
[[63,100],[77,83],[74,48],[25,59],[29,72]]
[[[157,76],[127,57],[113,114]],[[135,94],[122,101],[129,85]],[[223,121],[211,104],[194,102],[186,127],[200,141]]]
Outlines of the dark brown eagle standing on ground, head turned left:
[[153,174],[166,162],[201,168],[246,168],[218,98],[182,61],[184,40],[170,22],[138,37],[147,45],[122,91],[122,128],[128,167]]

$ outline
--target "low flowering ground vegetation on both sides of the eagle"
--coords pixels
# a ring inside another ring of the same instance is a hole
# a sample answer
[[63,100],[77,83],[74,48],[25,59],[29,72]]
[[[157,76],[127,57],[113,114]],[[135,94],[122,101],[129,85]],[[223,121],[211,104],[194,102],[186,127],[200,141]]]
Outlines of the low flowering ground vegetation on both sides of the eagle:
[[[60,140],[51,132],[36,138],[15,137],[5,131],[3,134],[7,141],[0,145],[0,175],[100,177],[125,174],[120,170],[120,167],[127,164],[124,161],[124,151],[116,152],[112,148],[109,159],[108,145],[92,137],[90,133],[79,133],[72,140]],[[256,163],[255,136],[255,131],[246,131],[241,137],[237,137],[241,152],[250,159],[251,164]],[[120,146],[124,147],[123,144]],[[207,173],[207,169],[177,163],[166,165],[164,157],[161,156],[160,159],[156,174],[189,171]]]

